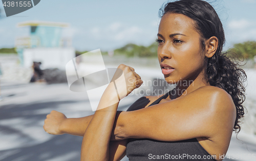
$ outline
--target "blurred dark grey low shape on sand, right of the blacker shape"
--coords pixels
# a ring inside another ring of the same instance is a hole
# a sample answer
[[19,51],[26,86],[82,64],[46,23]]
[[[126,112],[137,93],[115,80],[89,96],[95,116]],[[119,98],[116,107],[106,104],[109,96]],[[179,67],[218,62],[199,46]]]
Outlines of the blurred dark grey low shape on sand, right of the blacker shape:
[[49,69],[43,70],[43,72],[44,72],[44,79],[48,84],[68,82],[66,72],[61,71],[58,68],[49,68]]

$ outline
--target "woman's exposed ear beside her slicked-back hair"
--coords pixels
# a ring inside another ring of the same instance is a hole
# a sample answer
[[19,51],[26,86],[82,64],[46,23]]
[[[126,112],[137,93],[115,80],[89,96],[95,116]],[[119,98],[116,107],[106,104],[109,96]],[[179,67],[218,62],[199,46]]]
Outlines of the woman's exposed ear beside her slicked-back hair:
[[218,48],[218,38],[216,36],[212,36],[210,37],[208,40],[206,40],[205,42],[205,46],[206,46],[206,53],[205,56],[207,58],[210,58],[212,56],[214,56],[215,52],[217,51]]

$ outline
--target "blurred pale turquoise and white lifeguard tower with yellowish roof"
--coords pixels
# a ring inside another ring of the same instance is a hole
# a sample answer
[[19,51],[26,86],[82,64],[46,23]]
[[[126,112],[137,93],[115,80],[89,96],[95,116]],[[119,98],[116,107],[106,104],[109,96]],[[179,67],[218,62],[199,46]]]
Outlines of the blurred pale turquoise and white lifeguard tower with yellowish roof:
[[66,63],[75,57],[71,38],[61,38],[62,29],[69,24],[47,21],[26,21],[17,27],[29,27],[30,35],[17,37],[16,51],[20,64],[31,67],[33,61],[41,62],[41,68],[65,70]]

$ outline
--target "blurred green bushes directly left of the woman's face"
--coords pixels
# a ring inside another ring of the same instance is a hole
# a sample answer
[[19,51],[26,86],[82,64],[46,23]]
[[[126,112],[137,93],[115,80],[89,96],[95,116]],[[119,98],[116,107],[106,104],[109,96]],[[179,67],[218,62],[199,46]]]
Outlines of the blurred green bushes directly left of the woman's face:
[[125,55],[127,57],[156,57],[158,43],[154,42],[148,47],[143,45],[136,45],[133,43],[126,44],[124,47],[116,49],[115,55]]

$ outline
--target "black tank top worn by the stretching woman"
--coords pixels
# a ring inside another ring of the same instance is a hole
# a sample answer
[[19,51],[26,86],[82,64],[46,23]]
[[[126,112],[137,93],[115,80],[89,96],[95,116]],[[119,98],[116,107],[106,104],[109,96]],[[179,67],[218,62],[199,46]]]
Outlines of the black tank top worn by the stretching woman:
[[[162,99],[167,98],[172,90],[157,99],[150,106],[158,104]],[[140,98],[135,103],[139,106],[131,106],[127,111],[144,108],[150,102],[145,97]],[[134,103],[134,104],[135,104]],[[144,106],[141,106],[143,105]],[[163,142],[152,139],[128,139],[126,145],[126,156],[130,161],[144,160],[207,160],[216,161],[197,141],[196,138],[176,141]]]

